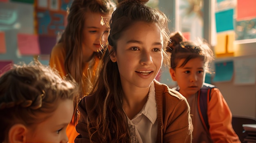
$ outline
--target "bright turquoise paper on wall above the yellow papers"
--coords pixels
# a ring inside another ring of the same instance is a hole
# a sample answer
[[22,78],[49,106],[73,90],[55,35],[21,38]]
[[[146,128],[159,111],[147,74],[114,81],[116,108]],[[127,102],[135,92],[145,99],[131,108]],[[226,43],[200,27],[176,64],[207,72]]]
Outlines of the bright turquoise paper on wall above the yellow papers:
[[215,13],[216,16],[216,31],[229,31],[234,30],[234,9],[229,9],[226,11],[220,11]]

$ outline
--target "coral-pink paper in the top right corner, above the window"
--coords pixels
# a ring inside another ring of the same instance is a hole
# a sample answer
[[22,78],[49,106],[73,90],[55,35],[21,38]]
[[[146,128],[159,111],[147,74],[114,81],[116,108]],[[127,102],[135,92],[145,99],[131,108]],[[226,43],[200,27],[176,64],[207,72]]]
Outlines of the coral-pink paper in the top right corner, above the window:
[[237,21],[256,17],[256,0],[237,0]]

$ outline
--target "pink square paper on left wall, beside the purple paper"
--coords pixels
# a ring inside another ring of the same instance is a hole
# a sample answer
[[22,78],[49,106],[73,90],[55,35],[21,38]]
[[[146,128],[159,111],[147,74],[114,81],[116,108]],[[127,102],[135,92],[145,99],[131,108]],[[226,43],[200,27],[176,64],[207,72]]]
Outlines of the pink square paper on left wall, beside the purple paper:
[[18,34],[18,49],[21,55],[39,55],[38,35]]

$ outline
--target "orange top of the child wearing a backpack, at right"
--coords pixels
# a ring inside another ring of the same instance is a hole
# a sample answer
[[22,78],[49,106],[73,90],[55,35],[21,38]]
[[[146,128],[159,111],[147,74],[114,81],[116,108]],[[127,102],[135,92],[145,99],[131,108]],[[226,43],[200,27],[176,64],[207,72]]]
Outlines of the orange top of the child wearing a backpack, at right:
[[208,103],[207,116],[209,132],[204,129],[198,110],[198,93],[187,98],[192,114],[192,143],[240,143],[238,135],[232,128],[232,114],[218,88],[212,88]]

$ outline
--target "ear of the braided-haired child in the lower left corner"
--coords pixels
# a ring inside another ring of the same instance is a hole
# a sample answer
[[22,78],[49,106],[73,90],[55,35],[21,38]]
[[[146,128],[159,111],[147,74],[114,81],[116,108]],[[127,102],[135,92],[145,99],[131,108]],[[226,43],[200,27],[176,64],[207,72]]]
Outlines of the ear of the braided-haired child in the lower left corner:
[[8,133],[9,143],[25,143],[27,128],[22,124],[13,125]]

